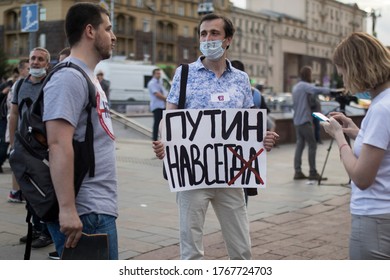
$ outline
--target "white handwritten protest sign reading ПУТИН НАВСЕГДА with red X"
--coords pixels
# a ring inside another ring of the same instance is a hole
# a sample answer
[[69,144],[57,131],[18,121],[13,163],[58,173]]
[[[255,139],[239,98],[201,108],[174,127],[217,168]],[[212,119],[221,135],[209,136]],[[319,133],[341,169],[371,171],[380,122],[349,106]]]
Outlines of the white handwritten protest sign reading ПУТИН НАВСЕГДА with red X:
[[266,111],[165,110],[164,165],[172,192],[265,188]]

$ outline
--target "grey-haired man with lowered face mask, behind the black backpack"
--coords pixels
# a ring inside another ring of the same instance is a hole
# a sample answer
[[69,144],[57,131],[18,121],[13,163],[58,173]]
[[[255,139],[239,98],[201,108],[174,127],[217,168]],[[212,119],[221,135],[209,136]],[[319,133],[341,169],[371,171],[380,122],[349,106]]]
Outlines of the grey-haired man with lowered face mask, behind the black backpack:
[[[15,85],[15,92],[13,93],[13,99],[11,101],[12,104],[9,120],[11,149],[14,147],[15,131],[18,130],[20,117],[38,97],[42,82],[45,79],[47,70],[50,66],[50,53],[44,48],[34,48],[30,52],[29,62],[29,75],[27,78],[19,80]],[[42,248],[52,244],[53,241],[49,231],[47,230],[46,224],[43,223],[36,215],[33,215],[32,218],[33,242],[31,247]],[[27,236],[20,238],[20,242],[25,243],[26,241]]]

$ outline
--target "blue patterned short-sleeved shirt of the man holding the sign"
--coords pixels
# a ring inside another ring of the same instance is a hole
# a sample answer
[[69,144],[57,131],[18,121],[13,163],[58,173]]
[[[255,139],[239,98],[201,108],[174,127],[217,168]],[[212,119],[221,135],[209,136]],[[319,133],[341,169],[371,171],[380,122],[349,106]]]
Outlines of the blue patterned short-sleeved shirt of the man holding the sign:
[[[214,72],[197,61],[189,64],[185,109],[251,108],[253,97],[249,77],[226,60],[226,70],[217,78]],[[178,105],[181,66],[176,69],[167,101]]]

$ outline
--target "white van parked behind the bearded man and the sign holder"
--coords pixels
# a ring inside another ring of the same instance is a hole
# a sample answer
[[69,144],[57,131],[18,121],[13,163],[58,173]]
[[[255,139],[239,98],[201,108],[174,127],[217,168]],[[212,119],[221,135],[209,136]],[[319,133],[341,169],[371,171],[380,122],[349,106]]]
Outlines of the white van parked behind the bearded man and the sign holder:
[[[104,78],[110,81],[110,100],[116,101],[150,101],[148,82],[152,78],[155,65],[136,64],[129,61],[103,60],[96,65],[95,74],[103,71]],[[169,92],[171,83],[161,70],[163,86]]]

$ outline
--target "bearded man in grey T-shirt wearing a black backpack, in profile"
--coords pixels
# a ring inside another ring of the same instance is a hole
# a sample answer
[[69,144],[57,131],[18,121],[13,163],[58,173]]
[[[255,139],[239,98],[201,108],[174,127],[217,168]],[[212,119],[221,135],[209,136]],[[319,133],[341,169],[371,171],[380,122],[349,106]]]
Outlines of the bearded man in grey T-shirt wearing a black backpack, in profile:
[[[44,87],[43,121],[59,205],[58,221],[49,222],[48,228],[59,255],[64,247],[76,247],[82,232],[103,233],[108,235],[109,258],[118,259],[115,137],[107,97],[94,77],[96,64],[112,55],[116,37],[108,11],[86,2],[69,9],[65,31],[71,54],[62,63],[76,64],[88,74],[96,87],[96,108],[88,114],[89,83],[76,69],[58,70]],[[88,118],[93,126],[94,176],[84,177],[75,196],[73,141],[87,137]]]

